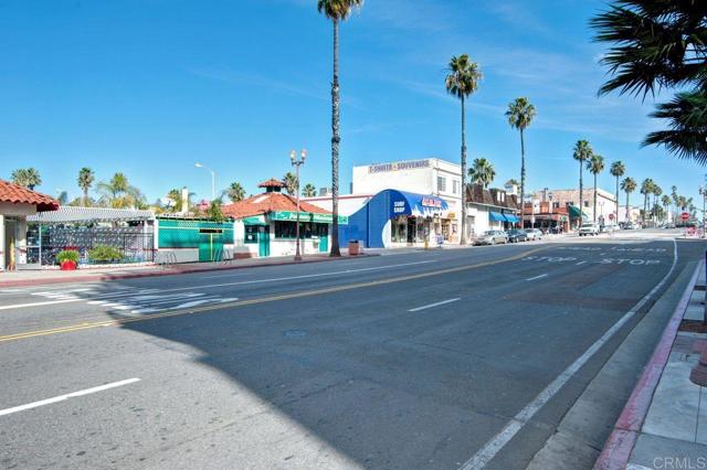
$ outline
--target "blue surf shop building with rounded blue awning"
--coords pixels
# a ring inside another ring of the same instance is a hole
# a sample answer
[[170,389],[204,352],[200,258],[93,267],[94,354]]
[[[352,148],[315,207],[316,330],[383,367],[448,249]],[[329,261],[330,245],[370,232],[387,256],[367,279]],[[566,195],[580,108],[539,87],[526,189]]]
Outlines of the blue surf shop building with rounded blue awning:
[[368,248],[434,244],[441,234],[441,216],[449,211],[443,199],[398,190],[372,196],[339,226],[339,243],[358,241]]

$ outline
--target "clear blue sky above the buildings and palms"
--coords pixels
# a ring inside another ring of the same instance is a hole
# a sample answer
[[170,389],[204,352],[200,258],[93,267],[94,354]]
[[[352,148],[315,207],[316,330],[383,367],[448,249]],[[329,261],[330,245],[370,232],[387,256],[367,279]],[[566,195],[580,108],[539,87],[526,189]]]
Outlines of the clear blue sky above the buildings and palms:
[[[469,161],[489,159],[496,183],[519,175],[506,105],[527,96],[528,188],[572,188],[573,143],[585,138],[636,180],[675,184],[697,200],[705,170],[640,148],[659,127],[653,100],[597,97],[604,46],[591,42],[594,0],[368,0],[341,30],[341,188],[351,167],[458,160],[460,106],[444,90],[452,55],[484,81],[471,99]],[[330,184],[331,25],[316,0],[6,0],[0,2],[0,178],[33,165],[41,191],[77,195],[76,173],[125,172],[150,201],[171,188],[249,193],[291,170]],[[611,190],[608,171],[600,185]],[[637,197],[634,196],[634,201]]]

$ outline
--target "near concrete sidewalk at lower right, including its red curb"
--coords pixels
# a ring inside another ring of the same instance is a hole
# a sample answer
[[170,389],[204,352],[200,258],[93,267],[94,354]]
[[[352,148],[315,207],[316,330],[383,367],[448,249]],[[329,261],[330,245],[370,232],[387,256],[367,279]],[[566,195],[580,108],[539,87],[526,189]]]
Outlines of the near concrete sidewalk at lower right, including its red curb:
[[689,380],[707,333],[679,331],[703,320],[705,264],[699,263],[639,380],[595,470],[707,469],[707,388]]

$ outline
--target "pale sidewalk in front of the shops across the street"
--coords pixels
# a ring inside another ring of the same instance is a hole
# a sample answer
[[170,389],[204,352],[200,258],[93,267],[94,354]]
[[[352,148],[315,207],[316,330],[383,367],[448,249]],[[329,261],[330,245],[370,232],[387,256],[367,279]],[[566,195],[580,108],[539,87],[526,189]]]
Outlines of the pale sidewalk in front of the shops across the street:
[[67,282],[92,282],[155,276],[175,276],[190,273],[243,269],[262,266],[337,261],[344,259],[365,258],[369,256],[378,256],[378,254],[369,253],[369,250],[367,250],[367,253],[358,256],[349,256],[346,250],[341,250],[340,258],[330,258],[328,254],[323,253],[305,255],[303,256],[303,260],[298,263],[295,261],[292,256],[271,256],[267,258],[233,259],[219,263],[184,263],[175,265],[148,265],[115,268],[78,268],[74,271],[62,271],[59,269],[4,271],[0,273],[0,288]]

